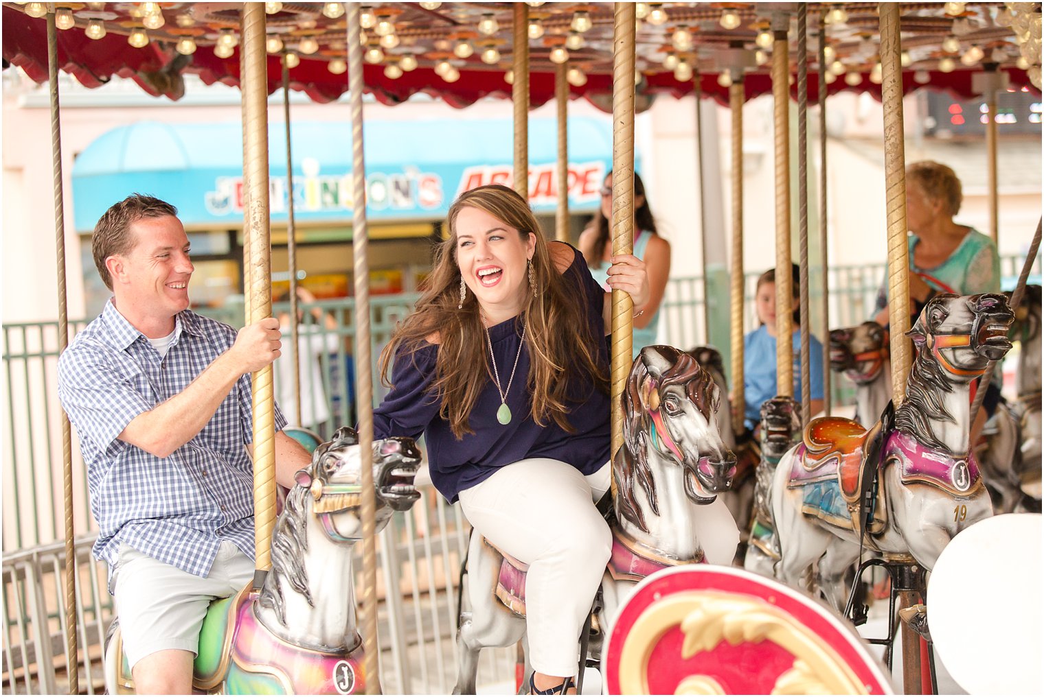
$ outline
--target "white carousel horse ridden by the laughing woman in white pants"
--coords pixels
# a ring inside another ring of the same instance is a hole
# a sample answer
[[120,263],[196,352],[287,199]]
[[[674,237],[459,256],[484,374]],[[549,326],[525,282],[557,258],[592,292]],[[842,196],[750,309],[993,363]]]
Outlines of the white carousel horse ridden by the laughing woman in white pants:
[[[615,514],[609,516],[613,551],[600,587],[599,631],[646,575],[705,561],[702,538],[716,543],[721,562],[732,559],[735,527],[710,531],[698,524],[701,509],[729,488],[735,474],[736,458],[715,422],[718,398],[713,379],[686,353],[645,346],[635,359],[622,396],[624,442],[613,458],[618,486]],[[470,607],[460,612],[454,694],[475,694],[481,649],[513,646],[526,627],[526,564],[473,534],[468,566]]]

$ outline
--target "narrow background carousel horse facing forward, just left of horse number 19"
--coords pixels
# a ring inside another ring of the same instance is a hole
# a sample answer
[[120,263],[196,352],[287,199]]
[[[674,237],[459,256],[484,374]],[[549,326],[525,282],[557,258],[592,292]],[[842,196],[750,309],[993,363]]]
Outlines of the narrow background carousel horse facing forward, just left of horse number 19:
[[774,396],[761,405],[761,461],[755,474],[754,513],[743,568],[762,576],[772,576],[780,558],[773,532],[772,482],[780,458],[801,438],[799,413],[798,403],[789,396]]

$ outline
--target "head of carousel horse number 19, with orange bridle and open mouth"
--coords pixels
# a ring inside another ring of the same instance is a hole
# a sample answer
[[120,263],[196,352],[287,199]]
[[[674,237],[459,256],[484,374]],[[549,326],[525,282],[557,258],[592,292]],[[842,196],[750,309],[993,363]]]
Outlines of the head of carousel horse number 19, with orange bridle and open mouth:
[[949,382],[967,383],[1012,348],[1007,337],[1015,315],[999,293],[931,298],[906,333],[918,350],[918,362],[933,361]]

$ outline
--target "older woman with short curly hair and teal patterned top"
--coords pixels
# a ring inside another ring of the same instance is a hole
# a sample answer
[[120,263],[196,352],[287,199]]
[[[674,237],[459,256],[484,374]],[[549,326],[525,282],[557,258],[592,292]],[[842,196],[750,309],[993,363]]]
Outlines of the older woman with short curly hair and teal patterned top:
[[[975,295],[1000,292],[1000,255],[993,240],[970,225],[953,221],[960,211],[960,179],[938,162],[916,162],[906,168],[906,224],[909,227],[910,310],[914,318],[935,293]],[[879,325],[888,325],[887,278],[877,297]],[[978,441],[987,418],[1000,401],[1000,370],[987,385],[971,428]],[[973,392],[974,394],[974,392]]]

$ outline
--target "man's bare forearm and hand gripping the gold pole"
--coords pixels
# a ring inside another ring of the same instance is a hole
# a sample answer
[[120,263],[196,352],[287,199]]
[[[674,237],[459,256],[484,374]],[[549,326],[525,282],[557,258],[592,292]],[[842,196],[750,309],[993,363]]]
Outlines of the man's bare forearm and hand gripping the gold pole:
[[279,358],[279,321],[274,317],[243,328],[232,347],[188,387],[135,416],[117,437],[156,457],[169,457],[207,426],[242,375]]

